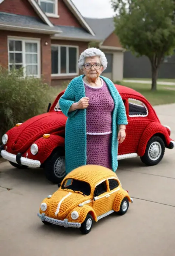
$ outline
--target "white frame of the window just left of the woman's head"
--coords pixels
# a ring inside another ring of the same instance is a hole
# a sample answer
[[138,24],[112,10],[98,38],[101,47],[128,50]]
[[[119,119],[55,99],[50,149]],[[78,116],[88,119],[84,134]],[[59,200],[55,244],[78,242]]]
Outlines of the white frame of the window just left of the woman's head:
[[[58,47],[58,74],[51,74],[51,76],[76,76],[78,72],[78,56],[79,56],[79,47],[77,45],[60,45],[60,44],[51,44],[51,47]],[[61,72],[61,47],[66,47],[66,70],[69,69],[69,48],[76,48],[76,73],[60,73]],[[52,48],[51,48],[52,51]]]

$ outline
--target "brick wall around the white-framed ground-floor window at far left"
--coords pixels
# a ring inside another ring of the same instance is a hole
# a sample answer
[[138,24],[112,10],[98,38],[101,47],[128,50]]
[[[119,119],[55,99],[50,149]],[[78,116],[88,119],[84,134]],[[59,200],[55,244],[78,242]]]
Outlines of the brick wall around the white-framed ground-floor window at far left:
[[[14,31],[0,30],[0,65],[8,68],[8,45],[7,37],[40,38],[41,39],[41,74],[44,82],[51,84],[51,39],[49,35],[19,33]],[[45,45],[45,42],[48,45]]]

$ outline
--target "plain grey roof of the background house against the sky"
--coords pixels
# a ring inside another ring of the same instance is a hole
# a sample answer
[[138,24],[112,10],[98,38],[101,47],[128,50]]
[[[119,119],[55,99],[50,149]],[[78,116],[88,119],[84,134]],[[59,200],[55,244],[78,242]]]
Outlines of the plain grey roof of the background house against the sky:
[[93,29],[96,38],[104,41],[115,30],[113,18],[85,18],[86,22]]

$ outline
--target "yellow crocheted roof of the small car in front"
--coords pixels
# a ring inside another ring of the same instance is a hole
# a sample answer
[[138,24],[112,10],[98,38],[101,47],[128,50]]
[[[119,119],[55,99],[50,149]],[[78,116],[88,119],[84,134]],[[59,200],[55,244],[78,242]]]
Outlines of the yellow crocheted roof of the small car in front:
[[65,178],[73,178],[81,181],[88,182],[94,187],[98,182],[103,179],[115,177],[118,179],[116,173],[110,169],[100,165],[83,165],[71,171]]

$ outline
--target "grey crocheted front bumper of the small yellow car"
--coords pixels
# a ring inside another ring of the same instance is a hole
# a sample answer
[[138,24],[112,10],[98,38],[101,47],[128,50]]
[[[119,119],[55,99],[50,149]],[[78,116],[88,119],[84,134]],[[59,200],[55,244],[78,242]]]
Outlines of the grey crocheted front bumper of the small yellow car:
[[50,218],[45,216],[44,213],[38,213],[37,216],[41,219],[41,221],[47,221],[49,223],[64,226],[65,228],[80,228],[81,224],[79,222],[69,222],[68,219],[64,219],[64,221],[60,221],[59,219]]

